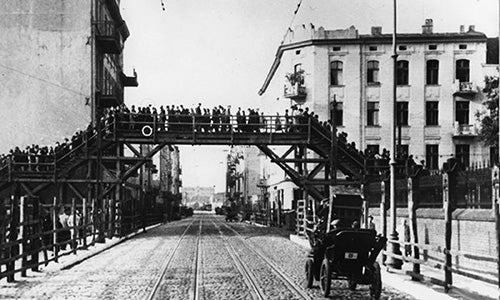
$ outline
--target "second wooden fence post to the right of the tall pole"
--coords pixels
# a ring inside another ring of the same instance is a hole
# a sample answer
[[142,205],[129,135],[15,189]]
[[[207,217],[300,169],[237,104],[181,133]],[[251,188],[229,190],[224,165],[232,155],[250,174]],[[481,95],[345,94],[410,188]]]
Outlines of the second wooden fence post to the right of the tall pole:
[[444,267],[444,290],[447,293],[450,290],[452,284],[452,273],[451,273],[451,199],[450,199],[450,174],[448,172],[443,173],[443,209],[444,209],[444,223],[445,223],[445,267]]

